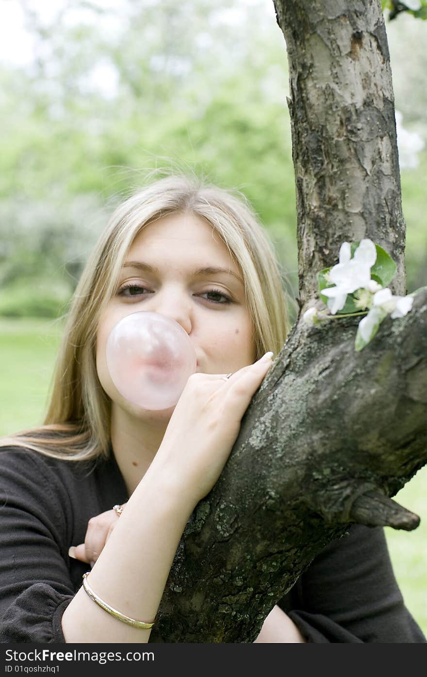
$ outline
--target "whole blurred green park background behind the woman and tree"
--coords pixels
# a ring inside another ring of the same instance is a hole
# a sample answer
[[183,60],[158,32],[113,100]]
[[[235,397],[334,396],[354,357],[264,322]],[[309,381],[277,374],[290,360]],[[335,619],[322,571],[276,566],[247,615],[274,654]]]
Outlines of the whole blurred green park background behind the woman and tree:
[[[271,0],[3,0],[0,21],[0,435],[43,422],[62,317],[114,206],[159,169],[252,202],[297,293],[286,45]],[[427,22],[387,22],[407,289],[427,284]],[[338,252],[337,252],[338,259]],[[427,470],[386,528],[427,634]],[[426,524],[424,523],[426,522]]]

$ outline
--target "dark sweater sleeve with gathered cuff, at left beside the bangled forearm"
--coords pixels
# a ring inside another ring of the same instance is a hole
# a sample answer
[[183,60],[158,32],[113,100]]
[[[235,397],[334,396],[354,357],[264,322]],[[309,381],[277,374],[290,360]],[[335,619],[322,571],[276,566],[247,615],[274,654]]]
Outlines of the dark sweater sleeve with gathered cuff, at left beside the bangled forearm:
[[68,569],[70,501],[49,463],[0,451],[0,641],[65,642],[75,590]]

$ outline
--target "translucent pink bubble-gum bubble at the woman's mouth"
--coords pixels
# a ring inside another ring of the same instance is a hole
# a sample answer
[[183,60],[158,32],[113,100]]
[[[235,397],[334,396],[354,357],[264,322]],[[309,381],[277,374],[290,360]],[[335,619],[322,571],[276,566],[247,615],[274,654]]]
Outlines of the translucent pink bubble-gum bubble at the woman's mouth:
[[175,406],[197,365],[185,329],[148,311],[117,322],[108,336],[106,360],[120,395],[148,410]]

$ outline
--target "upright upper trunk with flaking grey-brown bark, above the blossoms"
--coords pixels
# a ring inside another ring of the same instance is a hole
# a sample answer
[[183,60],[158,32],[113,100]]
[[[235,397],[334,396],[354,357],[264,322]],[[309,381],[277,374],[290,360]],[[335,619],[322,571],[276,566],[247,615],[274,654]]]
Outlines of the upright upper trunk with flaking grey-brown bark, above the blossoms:
[[344,240],[371,238],[405,293],[394,95],[379,1],[279,0],[288,48],[300,303]]

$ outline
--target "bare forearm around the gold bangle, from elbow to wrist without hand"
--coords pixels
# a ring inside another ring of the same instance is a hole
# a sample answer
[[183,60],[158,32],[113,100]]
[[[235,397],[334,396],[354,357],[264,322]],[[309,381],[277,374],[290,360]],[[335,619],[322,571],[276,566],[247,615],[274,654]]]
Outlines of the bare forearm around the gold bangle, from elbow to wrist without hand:
[[[193,509],[175,482],[150,467],[91,570],[93,592],[121,613],[151,622]],[[64,611],[62,630],[66,642],[148,642],[151,632],[118,621],[83,588]]]

